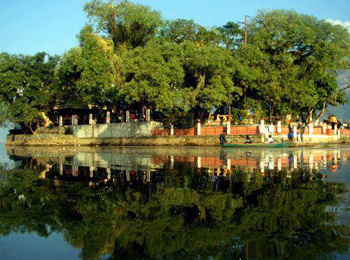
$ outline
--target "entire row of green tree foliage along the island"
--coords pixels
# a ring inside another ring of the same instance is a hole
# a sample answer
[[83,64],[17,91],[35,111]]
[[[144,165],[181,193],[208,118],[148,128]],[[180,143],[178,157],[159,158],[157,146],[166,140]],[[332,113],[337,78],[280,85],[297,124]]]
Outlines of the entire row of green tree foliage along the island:
[[128,1],[92,0],[84,10],[90,25],[54,78],[56,57],[1,54],[1,121],[31,125],[53,104],[91,104],[151,108],[166,124],[191,127],[210,113],[239,116],[239,110],[255,121],[301,113],[311,119],[347,101],[337,79],[349,69],[350,34],[339,25],[294,11],[260,11],[243,44],[234,22],[206,28],[164,21]]

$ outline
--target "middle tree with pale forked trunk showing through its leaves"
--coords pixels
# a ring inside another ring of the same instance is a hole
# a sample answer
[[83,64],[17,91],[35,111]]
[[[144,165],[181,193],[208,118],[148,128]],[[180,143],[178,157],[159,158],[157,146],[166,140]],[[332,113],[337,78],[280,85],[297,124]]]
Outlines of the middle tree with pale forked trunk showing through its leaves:
[[233,82],[236,69],[231,53],[221,47],[183,44],[185,85],[194,95],[192,113],[195,118],[207,117],[210,111],[229,105],[231,95],[241,95]]

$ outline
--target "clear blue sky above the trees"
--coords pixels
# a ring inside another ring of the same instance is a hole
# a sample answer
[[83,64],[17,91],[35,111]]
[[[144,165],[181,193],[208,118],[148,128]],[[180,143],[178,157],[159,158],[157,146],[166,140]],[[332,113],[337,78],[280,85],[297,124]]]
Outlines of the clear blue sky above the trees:
[[[106,0],[107,1],[107,0]],[[76,35],[87,22],[86,0],[0,0],[0,52],[62,54],[77,45]],[[243,21],[259,9],[292,9],[299,13],[350,21],[350,0],[135,0],[162,13],[165,19],[193,19],[204,26]]]

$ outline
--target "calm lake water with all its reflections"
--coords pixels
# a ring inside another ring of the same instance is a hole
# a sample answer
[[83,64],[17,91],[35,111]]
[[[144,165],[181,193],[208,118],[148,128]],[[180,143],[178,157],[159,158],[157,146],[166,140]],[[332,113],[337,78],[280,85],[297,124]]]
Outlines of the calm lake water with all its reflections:
[[350,147],[0,146],[0,259],[350,259]]

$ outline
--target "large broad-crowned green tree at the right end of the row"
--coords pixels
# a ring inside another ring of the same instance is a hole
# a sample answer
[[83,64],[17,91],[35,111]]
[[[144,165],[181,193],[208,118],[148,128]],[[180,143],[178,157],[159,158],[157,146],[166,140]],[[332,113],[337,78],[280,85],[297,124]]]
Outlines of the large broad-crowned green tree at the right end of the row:
[[293,11],[262,11],[249,39],[238,51],[244,66],[237,79],[248,96],[265,102],[270,116],[345,101],[337,84],[337,71],[349,67],[345,28]]

